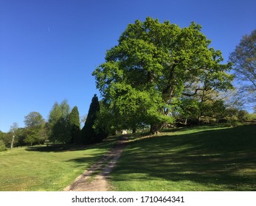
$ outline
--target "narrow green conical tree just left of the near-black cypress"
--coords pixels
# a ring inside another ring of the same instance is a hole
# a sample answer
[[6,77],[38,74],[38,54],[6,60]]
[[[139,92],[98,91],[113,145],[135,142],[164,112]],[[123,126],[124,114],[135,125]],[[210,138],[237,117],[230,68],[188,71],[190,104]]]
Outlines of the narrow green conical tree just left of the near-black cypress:
[[71,143],[81,143],[80,141],[80,118],[77,106],[73,107],[69,115],[69,127]]

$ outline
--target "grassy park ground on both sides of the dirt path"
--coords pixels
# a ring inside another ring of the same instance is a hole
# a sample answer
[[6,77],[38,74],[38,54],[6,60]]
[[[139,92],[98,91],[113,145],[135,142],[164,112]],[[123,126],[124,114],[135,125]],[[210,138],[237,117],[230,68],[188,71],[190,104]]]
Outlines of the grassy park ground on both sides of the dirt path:
[[63,191],[97,163],[86,184],[101,175],[111,191],[256,191],[255,134],[256,125],[218,125],[126,135],[106,174],[122,136],[91,146],[13,149],[0,152],[0,191]]

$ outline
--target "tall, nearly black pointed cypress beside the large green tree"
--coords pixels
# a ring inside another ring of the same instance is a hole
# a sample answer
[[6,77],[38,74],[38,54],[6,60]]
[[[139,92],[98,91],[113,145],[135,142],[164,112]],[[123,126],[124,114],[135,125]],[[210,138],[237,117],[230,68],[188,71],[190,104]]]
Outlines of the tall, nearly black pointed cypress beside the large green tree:
[[81,131],[81,138],[84,144],[97,143],[102,141],[103,138],[106,137],[103,132],[100,132],[100,129],[97,129],[98,132],[96,132],[96,130],[94,129],[94,123],[96,121],[98,112],[100,112],[100,103],[97,95],[94,94],[94,97],[91,99],[86,123]]

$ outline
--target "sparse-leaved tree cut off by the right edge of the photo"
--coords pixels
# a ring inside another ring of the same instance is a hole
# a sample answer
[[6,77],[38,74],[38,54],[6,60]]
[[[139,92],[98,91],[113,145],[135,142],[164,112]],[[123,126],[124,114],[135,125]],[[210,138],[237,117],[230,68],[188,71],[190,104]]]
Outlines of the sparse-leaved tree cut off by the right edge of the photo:
[[235,77],[240,83],[241,93],[249,102],[256,102],[256,29],[244,35],[229,60],[234,64]]

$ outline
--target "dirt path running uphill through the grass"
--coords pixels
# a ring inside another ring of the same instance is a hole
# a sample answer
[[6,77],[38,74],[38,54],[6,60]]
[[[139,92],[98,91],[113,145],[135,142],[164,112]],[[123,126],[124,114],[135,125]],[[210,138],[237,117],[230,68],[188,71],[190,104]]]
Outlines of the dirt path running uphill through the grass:
[[[64,188],[64,191],[109,191],[111,185],[108,183],[108,175],[116,166],[117,160],[121,156],[127,139],[122,137],[117,141],[116,146],[112,148],[103,159],[92,165],[88,170],[84,171],[75,179],[72,185]],[[100,173],[100,174],[99,174]],[[96,174],[96,175],[95,175]]]

